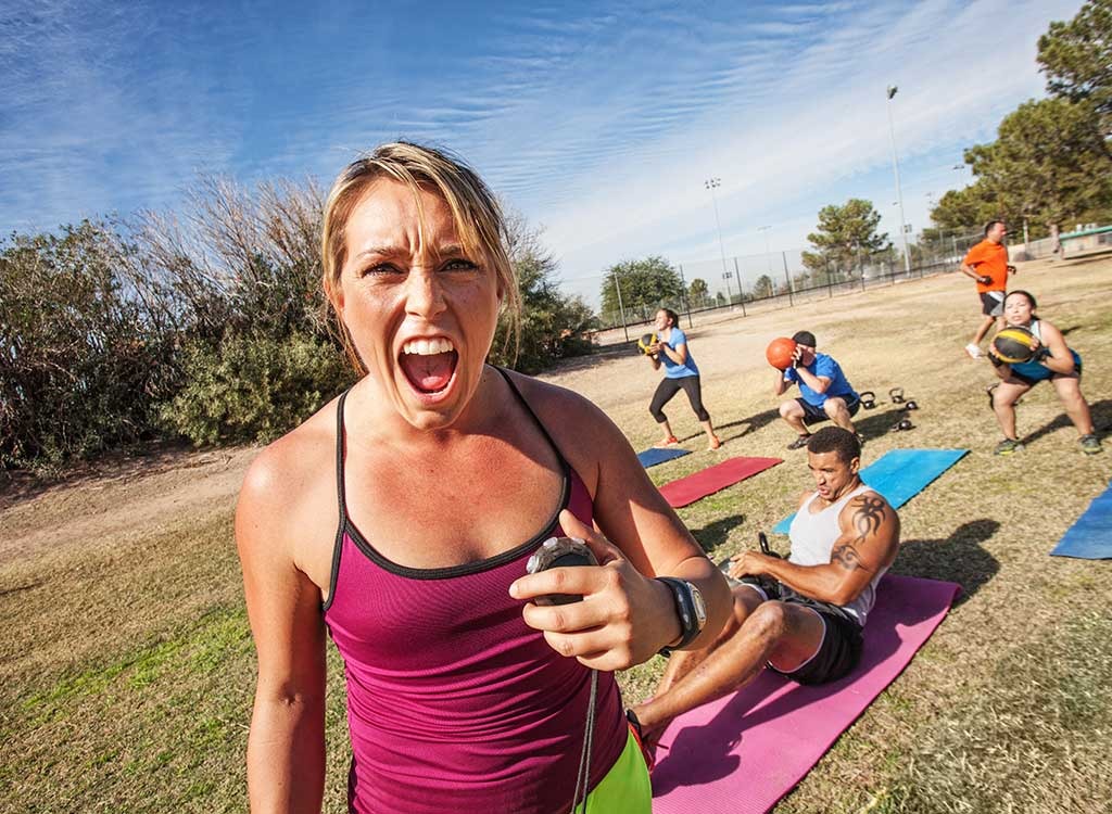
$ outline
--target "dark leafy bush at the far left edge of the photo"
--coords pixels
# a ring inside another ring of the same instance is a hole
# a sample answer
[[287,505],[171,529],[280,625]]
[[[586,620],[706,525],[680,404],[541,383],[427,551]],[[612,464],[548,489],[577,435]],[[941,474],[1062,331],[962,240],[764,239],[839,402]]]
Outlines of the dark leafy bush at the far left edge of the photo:
[[0,246],[0,465],[57,465],[153,429],[172,339],[120,274],[103,224]]

